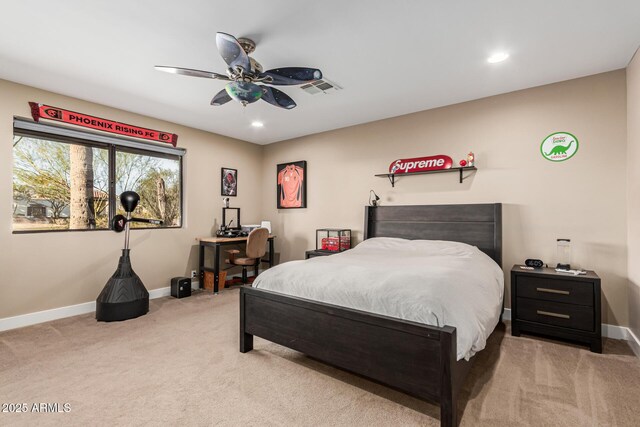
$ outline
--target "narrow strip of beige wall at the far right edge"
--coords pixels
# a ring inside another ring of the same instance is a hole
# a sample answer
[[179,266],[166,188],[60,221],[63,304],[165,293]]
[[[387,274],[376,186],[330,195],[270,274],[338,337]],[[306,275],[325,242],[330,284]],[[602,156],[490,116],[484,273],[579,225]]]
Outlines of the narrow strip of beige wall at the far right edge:
[[629,327],[640,337],[640,54],[627,68]]

